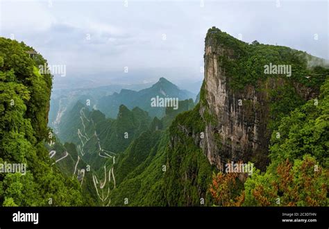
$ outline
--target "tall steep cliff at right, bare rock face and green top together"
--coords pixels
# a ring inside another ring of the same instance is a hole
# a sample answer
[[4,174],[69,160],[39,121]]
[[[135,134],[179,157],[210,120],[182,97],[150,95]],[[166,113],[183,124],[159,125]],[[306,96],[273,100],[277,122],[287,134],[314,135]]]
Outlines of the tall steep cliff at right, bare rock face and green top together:
[[[210,164],[222,170],[228,161],[242,160],[265,169],[280,113],[317,96],[317,87],[305,82],[314,71],[307,69],[307,57],[287,47],[246,44],[217,28],[208,31],[199,113],[206,123],[201,146]],[[264,65],[270,63],[292,66],[292,77],[267,76]]]

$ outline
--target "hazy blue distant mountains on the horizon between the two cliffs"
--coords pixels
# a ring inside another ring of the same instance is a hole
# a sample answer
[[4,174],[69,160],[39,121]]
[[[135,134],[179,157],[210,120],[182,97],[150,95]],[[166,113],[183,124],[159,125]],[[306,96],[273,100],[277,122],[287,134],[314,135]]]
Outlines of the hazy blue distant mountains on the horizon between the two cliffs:
[[62,118],[69,115],[69,111],[78,101],[91,106],[92,109],[101,110],[106,114],[106,117],[117,117],[121,104],[126,105],[129,109],[140,107],[148,111],[151,117],[162,117],[165,114],[165,108],[152,108],[151,98],[156,96],[177,98],[178,100],[195,98],[195,94],[187,90],[180,90],[165,78],[160,78],[158,83],[149,86],[150,83],[144,83],[53,90],[49,110],[49,126],[58,133],[58,125],[60,125]]

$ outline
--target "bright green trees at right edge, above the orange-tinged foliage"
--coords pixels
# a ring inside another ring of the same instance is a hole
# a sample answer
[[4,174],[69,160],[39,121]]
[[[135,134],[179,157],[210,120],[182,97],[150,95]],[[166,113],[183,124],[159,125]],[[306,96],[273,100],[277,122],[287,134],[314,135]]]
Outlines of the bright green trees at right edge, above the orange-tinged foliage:
[[[273,131],[270,158],[273,162],[302,159],[312,155],[329,167],[329,78],[321,87],[319,99],[311,99],[280,121]],[[277,137],[280,133],[280,137]]]

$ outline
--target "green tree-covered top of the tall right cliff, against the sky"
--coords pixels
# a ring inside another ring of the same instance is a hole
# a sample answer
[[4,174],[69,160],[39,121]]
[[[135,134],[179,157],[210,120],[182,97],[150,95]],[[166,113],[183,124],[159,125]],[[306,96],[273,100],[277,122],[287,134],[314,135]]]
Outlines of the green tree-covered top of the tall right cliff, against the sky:
[[[289,77],[289,80],[301,83],[305,87],[312,87],[319,92],[320,86],[329,74],[328,63],[325,60],[311,56],[305,51],[287,46],[260,44],[257,41],[248,44],[220,31],[219,28],[210,28],[205,42],[232,51],[228,55],[218,56],[218,60],[225,66],[230,87],[235,90],[242,90],[246,85],[259,86],[269,77]],[[279,72],[267,74],[264,66],[270,63],[291,65],[291,76]]]

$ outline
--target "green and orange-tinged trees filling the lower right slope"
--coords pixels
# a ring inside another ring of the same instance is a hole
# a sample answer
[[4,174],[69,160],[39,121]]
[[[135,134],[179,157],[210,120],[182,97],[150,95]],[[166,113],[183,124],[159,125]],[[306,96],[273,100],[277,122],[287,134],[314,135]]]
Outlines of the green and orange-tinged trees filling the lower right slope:
[[[229,205],[328,206],[328,89],[329,79],[319,100],[307,101],[280,120],[272,134],[267,171],[253,171],[238,196],[225,195],[219,186],[212,189],[212,196]],[[228,186],[235,184],[228,179],[221,178]]]

